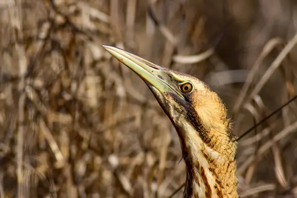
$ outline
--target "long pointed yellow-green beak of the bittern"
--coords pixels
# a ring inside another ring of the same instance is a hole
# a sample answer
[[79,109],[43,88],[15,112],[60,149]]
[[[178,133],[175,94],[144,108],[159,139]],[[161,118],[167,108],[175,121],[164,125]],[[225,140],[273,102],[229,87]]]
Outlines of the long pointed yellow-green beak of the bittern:
[[175,92],[182,97],[181,93],[176,92],[175,89],[169,85],[169,82],[166,82],[169,80],[168,69],[153,64],[148,60],[129,53],[123,49],[111,46],[102,47],[120,62],[129,67],[132,71],[134,71],[145,82],[148,82],[151,86],[156,88],[159,92]]

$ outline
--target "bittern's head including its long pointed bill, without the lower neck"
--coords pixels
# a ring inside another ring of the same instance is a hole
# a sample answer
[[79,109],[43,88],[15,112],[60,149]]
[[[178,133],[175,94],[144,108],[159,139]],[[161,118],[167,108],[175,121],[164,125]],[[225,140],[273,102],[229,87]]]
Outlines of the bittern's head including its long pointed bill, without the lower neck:
[[204,148],[216,153],[213,155],[234,159],[236,137],[231,130],[226,106],[205,83],[188,74],[151,63],[123,49],[110,46],[103,48],[147,84],[175,126],[184,158],[185,155],[197,154],[193,152],[198,152],[204,145]]

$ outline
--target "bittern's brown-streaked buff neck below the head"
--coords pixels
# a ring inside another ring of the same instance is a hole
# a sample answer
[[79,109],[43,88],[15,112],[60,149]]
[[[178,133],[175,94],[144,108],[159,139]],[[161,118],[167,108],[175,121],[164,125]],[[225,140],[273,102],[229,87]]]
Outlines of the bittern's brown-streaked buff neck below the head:
[[184,197],[237,198],[235,141],[210,129],[210,142],[205,143],[198,135],[203,131],[197,131],[192,123],[183,125],[176,128],[187,168]]

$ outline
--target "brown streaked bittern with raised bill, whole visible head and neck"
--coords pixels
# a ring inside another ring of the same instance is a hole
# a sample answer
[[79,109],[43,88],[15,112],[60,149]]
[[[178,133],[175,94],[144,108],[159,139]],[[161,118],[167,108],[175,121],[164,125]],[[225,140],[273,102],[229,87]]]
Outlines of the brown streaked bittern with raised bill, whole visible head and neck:
[[187,170],[183,198],[238,198],[236,136],[218,95],[193,76],[102,47],[145,81],[174,125]]

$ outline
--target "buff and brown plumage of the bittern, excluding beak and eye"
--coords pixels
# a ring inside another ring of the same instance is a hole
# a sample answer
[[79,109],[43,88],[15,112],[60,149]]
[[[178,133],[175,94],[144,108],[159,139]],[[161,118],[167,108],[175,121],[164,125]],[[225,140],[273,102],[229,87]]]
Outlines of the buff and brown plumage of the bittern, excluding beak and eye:
[[226,106],[202,81],[169,71],[173,83],[194,85],[184,99],[150,87],[181,139],[187,166],[184,198],[237,198],[237,144]]

